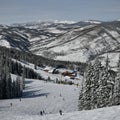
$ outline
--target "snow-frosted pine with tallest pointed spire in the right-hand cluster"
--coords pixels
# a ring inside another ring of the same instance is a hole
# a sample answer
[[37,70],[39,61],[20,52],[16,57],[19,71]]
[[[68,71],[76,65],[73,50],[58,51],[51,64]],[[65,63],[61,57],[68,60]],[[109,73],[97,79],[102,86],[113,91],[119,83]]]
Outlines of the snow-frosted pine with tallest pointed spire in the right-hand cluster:
[[97,89],[98,108],[112,105],[113,88],[114,88],[114,75],[113,75],[114,72],[109,67],[109,61],[110,60],[107,56],[105,67],[102,66],[100,70],[99,87]]

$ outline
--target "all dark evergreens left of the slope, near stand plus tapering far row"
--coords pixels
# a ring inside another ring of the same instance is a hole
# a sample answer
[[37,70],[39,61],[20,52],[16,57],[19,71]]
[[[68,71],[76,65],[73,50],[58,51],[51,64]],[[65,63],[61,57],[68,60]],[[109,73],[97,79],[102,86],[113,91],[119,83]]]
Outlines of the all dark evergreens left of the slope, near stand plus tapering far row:
[[[15,74],[17,77],[12,77]],[[33,69],[22,66],[9,56],[0,55],[0,99],[21,97],[25,78],[41,79]]]

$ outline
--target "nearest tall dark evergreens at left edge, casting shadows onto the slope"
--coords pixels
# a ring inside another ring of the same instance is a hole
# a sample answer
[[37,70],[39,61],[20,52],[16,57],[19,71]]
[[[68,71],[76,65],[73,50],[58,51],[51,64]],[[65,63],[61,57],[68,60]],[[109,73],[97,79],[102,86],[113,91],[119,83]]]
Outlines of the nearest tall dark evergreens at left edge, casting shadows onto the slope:
[[24,79],[17,76],[12,79],[10,73],[10,62],[6,56],[0,56],[0,99],[10,99],[22,96]]

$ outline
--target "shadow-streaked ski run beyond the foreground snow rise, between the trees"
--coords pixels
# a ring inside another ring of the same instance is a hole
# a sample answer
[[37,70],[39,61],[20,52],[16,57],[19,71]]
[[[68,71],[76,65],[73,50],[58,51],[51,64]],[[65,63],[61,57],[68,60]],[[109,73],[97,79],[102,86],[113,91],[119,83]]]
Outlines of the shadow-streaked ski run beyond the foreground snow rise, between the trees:
[[[41,110],[46,114],[78,110],[79,88],[75,85],[60,85],[41,80],[26,80],[23,97],[20,99],[0,100],[0,120],[10,116],[39,115]],[[10,103],[12,102],[12,107]],[[9,120],[13,120],[10,118]]]

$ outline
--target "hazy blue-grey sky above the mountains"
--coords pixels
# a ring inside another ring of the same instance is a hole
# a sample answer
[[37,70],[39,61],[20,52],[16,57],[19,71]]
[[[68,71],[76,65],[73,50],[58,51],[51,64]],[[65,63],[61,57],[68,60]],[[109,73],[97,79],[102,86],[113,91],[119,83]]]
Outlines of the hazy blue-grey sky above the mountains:
[[120,0],[0,0],[0,24],[120,19]]

